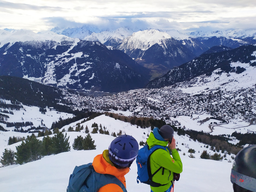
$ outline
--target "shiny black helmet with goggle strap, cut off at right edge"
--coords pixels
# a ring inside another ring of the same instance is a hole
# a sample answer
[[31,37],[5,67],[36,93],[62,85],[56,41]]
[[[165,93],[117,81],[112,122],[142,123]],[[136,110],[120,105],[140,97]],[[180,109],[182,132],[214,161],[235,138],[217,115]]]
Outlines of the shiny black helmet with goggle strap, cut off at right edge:
[[256,192],[256,145],[245,147],[237,153],[230,180],[234,191],[244,188]]

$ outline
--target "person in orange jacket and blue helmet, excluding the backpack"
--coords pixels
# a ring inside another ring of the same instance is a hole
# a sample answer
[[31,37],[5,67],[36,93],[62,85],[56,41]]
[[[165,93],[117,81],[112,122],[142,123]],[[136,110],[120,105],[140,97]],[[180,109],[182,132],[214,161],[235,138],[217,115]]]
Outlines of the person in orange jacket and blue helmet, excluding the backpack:
[[[115,138],[108,150],[94,157],[92,165],[97,173],[110,174],[117,177],[125,186],[125,177],[130,170],[132,162],[136,159],[139,145],[136,139],[130,135],[121,135]],[[117,184],[107,184],[98,192],[123,192]]]

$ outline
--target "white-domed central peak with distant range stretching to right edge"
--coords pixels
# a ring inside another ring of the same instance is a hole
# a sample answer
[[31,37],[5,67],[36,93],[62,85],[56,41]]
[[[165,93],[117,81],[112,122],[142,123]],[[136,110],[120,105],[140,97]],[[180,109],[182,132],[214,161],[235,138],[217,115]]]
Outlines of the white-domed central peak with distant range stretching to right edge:
[[148,29],[132,34],[131,30],[129,33],[127,31],[125,28],[118,30],[123,33],[118,38],[116,32],[111,35],[110,31],[105,31],[93,33],[85,39],[97,40],[124,51],[140,65],[151,70],[151,79],[194,59],[213,46],[237,48],[256,43],[256,30],[181,33],[176,30]]

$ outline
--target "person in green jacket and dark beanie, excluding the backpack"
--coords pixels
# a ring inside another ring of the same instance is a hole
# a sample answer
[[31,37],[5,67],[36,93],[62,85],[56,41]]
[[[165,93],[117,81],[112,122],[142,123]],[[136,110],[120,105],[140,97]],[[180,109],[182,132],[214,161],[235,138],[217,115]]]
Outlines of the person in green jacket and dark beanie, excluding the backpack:
[[[149,148],[155,145],[167,146],[169,150],[158,149],[150,156],[151,173],[155,173],[162,167],[153,177],[152,181],[162,184],[159,187],[150,186],[151,192],[171,192],[173,191],[173,173],[182,172],[182,162],[180,155],[176,150],[176,142],[173,137],[173,128],[164,125],[160,129],[155,127],[150,133],[147,144]],[[172,157],[170,155],[172,153]]]

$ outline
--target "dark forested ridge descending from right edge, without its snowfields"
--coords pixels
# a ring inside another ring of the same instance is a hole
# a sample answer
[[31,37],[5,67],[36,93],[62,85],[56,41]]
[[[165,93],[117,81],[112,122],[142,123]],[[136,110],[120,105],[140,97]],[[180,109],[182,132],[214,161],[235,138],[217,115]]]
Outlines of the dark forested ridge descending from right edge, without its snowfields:
[[169,86],[202,74],[210,75],[214,70],[218,68],[226,73],[231,71],[240,73],[240,70],[244,70],[242,69],[243,67],[237,67],[234,69],[234,67],[230,67],[230,63],[237,61],[241,63],[247,62],[254,67],[255,51],[256,46],[248,45],[241,46],[233,50],[201,55],[188,63],[184,63],[179,67],[173,68],[164,76],[150,81],[146,88],[159,88]]

